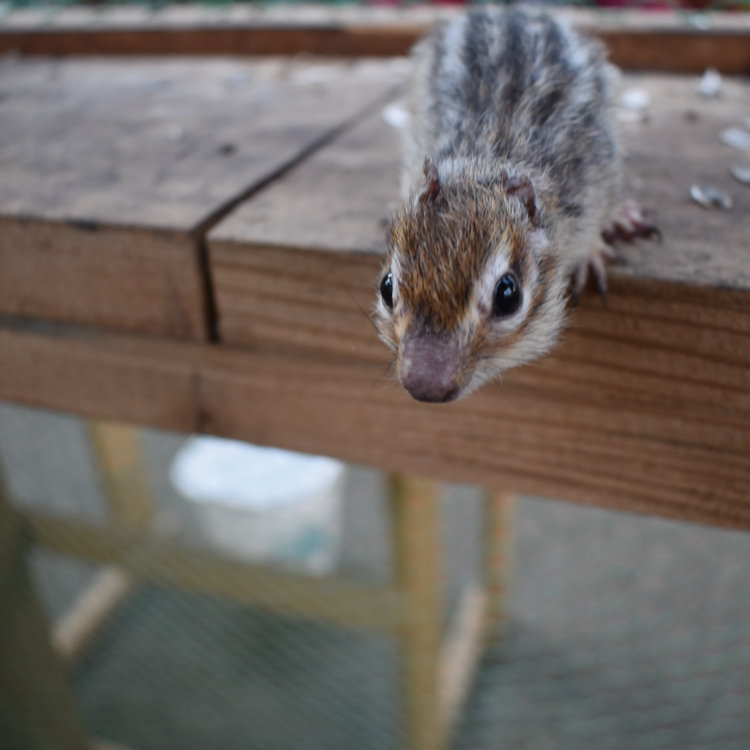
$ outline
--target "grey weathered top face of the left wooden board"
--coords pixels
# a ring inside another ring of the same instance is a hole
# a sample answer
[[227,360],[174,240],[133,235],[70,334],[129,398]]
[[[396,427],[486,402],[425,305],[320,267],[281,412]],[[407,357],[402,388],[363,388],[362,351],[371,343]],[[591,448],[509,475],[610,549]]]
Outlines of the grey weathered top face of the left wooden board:
[[0,213],[191,231],[397,83],[403,63],[10,61]]

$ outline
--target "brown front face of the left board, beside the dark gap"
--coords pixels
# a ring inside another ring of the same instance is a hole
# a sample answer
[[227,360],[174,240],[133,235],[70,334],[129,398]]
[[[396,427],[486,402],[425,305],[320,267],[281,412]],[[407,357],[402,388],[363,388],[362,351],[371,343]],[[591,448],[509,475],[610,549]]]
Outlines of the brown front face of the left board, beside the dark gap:
[[188,236],[0,217],[0,313],[200,339],[205,305]]

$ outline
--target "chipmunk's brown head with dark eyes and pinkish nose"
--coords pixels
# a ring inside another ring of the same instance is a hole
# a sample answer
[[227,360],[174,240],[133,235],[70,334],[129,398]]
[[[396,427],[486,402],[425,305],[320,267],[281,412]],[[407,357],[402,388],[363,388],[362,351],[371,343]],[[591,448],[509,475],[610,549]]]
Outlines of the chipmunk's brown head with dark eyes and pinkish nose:
[[375,318],[399,379],[453,401],[544,354],[563,323],[565,280],[525,175],[429,159],[397,210]]

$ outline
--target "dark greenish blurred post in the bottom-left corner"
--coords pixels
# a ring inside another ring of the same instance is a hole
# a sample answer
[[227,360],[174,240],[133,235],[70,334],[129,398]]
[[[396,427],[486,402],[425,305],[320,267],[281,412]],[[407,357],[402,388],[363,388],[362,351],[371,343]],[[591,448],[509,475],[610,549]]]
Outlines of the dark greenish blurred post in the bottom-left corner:
[[21,526],[2,493],[0,476],[0,735],[11,747],[85,750],[83,723],[31,586]]

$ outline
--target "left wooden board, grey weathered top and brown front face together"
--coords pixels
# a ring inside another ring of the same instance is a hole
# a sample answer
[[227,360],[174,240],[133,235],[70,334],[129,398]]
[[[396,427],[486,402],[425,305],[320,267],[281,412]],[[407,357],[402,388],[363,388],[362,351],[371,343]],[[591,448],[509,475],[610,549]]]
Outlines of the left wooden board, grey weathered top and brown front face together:
[[390,90],[385,65],[3,62],[0,312],[204,337],[204,228]]

